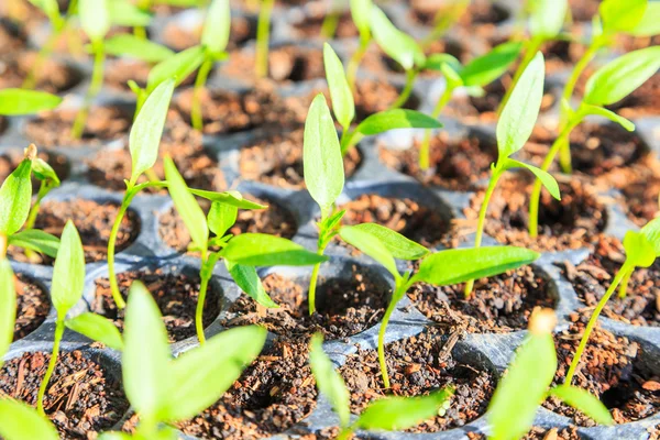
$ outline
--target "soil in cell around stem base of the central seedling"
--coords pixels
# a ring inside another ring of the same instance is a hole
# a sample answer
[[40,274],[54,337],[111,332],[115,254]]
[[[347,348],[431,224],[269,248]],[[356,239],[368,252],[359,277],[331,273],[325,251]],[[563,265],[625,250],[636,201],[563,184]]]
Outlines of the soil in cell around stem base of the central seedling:
[[279,308],[264,310],[243,294],[230,307],[224,324],[258,323],[283,336],[322,331],[329,339],[348,338],[378,323],[389,300],[391,293],[365,275],[353,266],[353,275],[349,280],[319,277],[317,312],[309,316],[309,280],[297,282],[271,274],[263,279],[263,284]]

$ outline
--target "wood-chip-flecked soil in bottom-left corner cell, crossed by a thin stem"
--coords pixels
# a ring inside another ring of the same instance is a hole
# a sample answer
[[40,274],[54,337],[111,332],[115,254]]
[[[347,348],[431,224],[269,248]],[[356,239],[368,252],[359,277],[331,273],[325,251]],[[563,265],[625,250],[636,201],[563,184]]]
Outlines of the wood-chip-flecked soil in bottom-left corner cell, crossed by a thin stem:
[[[50,353],[24,353],[0,370],[0,395],[36,405],[36,395],[46,373]],[[80,351],[61,353],[44,409],[59,435],[66,439],[89,439],[107,431],[129,409],[121,383]]]

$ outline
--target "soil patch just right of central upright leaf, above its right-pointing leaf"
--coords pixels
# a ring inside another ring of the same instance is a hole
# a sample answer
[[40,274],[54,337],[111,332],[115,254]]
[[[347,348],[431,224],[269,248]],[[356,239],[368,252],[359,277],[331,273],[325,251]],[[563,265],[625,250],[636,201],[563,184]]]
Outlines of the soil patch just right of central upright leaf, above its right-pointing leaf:
[[450,224],[438,212],[415,200],[364,194],[343,204],[344,224],[378,223],[425,246],[438,244]]

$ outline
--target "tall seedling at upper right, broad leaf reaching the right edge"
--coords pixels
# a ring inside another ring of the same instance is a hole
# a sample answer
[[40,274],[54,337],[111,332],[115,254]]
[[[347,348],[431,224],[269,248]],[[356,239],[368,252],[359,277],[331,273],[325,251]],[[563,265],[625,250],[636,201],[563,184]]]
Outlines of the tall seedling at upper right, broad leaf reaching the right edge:
[[[602,4],[605,4],[603,2]],[[592,75],[586,82],[586,90],[576,110],[572,110],[568,101],[562,101],[563,114],[566,120],[561,125],[559,136],[552,143],[543,160],[541,169],[548,172],[554,157],[561,148],[568,148],[570,156],[570,136],[573,129],[588,116],[607,118],[620,124],[628,131],[635,130],[635,124],[605,108],[620,101],[641,86],[660,68],[660,46],[652,46],[623,55]],[[529,202],[529,234],[538,235],[539,204],[542,182],[535,182]]]

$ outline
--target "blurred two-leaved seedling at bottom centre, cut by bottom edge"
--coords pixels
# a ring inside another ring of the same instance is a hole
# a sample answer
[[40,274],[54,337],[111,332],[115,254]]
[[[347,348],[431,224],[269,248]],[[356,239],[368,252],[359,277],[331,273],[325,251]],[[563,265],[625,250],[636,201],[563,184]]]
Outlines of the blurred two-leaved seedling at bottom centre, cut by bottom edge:
[[395,431],[411,428],[449,407],[454,389],[447,387],[422,397],[384,397],[370,404],[351,424],[350,393],[341,375],[323,352],[323,337],[310,341],[309,364],[317,387],[339,416],[341,431],[338,440],[348,440],[358,429]]

